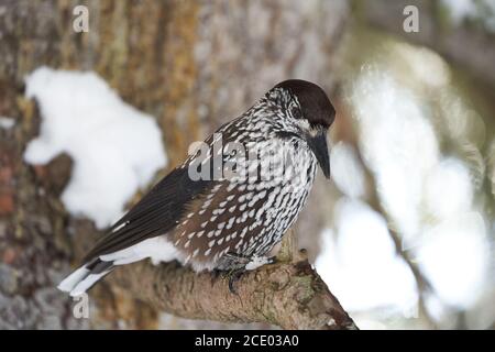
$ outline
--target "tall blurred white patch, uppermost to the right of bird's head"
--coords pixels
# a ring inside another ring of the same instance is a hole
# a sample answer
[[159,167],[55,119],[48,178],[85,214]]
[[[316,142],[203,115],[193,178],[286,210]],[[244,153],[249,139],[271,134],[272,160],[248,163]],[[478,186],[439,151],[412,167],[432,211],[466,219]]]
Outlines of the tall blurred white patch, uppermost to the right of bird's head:
[[409,248],[421,232],[425,178],[440,160],[433,127],[417,96],[388,72],[364,67],[350,102],[359,147],[391,220]]

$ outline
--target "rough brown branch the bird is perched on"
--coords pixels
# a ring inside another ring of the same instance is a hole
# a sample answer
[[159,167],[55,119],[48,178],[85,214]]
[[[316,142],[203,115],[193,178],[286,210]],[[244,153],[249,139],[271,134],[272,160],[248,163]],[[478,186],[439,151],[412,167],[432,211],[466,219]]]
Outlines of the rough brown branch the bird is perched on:
[[194,273],[176,263],[138,263],[109,278],[173,315],[223,322],[268,322],[284,329],[358,329],[308,261],[265,265],[237,282]]

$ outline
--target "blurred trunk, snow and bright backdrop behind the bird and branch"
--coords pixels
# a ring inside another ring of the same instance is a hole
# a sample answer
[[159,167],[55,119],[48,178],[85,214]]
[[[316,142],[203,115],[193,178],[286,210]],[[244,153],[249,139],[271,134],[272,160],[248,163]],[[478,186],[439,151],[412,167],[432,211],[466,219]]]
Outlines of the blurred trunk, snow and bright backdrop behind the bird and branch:
[[494,0],[0,0],[0,328],[271,328],[106,283],[77,319],[55,286],[190,143],[287,78],[338,111],[332,180],[296,231],[358,326],[495,328]]

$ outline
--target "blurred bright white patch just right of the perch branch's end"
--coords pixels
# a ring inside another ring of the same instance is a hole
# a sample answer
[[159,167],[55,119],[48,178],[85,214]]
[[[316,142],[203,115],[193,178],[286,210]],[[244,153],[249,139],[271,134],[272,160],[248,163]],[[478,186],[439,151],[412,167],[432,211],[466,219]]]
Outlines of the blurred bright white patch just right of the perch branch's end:
[[336,209],[337,235],[322,233],[316,267],[350,311],[380,309],[384,315],[416,315],[418,294],[407,264],[396,254],[385,219],[356,199]]

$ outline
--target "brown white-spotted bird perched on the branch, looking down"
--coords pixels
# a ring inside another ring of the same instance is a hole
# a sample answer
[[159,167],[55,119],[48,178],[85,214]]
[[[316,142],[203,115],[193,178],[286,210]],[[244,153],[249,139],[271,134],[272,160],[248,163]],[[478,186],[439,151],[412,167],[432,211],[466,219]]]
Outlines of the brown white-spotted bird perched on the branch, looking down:
[[305,206],[318,165],[330,178],[334,118],[318,85],[275,85],[152,187],[58,288],[79,296],[116,267],[144,258],[237,274],[273,263],[267,254]]

